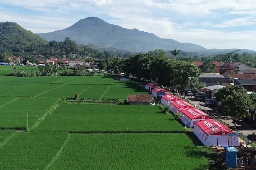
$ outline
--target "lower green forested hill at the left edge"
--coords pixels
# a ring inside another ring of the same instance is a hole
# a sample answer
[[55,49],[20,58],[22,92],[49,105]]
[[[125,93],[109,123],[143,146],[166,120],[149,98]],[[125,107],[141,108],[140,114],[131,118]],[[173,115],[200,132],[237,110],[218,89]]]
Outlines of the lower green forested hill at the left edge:
[[0,51],[29,52],[44,44],[48,42],[17,23],[0,22]]

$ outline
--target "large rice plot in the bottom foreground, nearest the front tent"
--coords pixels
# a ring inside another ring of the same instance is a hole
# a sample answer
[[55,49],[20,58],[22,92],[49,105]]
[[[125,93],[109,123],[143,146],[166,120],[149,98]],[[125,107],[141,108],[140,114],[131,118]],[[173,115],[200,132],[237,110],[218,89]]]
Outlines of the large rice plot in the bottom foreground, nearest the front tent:
[[205,170],[186,134],[72,134],[50,170]]

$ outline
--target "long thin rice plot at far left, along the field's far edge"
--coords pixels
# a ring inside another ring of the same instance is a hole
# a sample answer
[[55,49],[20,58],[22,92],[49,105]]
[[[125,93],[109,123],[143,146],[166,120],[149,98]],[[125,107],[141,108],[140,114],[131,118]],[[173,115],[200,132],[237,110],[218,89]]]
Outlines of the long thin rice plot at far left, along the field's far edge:
[[0,84],[47,84],[56,81],[59,77],[14,77],[0,76]]

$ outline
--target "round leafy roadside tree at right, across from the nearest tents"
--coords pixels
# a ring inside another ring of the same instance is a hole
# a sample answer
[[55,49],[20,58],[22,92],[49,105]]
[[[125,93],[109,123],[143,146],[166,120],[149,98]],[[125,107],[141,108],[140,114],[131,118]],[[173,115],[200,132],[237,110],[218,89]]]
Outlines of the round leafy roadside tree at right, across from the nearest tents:
[[215,94],[217,101],[221,102],[220,109],[233,118],[236,128],[237,118],[248,116],[253,109],[253,101],[243,86],[232,85],[218,90]]

